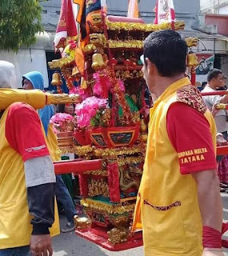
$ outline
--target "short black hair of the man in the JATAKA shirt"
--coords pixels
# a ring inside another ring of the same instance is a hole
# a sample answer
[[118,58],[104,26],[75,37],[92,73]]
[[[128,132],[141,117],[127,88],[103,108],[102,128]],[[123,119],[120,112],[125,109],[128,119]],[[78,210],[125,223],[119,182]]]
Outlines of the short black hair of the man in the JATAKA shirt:
[[144,58],[149,58],[162,77],[186,71],[188,47],[178,32],[161,30],[151,33],[144,42]]

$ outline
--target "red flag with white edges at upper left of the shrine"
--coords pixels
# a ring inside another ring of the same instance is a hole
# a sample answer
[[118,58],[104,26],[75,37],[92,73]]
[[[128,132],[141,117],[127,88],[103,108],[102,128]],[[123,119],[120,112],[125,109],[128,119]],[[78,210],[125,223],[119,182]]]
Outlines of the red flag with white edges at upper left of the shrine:
[[77,6],[72,0],[62,0],[60,17],[56,34],[54,37],[54,47],[61,48],[67,37],[74,37],[78,34],[76,26]]

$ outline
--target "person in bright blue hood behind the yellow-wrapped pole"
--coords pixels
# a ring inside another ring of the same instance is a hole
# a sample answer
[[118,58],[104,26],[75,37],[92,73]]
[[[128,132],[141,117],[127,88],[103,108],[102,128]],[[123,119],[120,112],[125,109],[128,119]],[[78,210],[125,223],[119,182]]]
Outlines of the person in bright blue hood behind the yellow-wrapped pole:
[[[30,73],[24,74],[22,76],[22,86],[24,90],[44,90],[44,80],[41,73],[37,71],[32,71]],[[58,153],[57,138],[50,126],[50,118],[54,115],[54,106],[45,106],[42,110],[38,110],[38,114],[41,118],[42,125],[44,126],[46,132],[47,144],[50,146],[51,150],[54,152],[54,161],[61,160],[60,154]],[[67,190],[63,180],[62,175],[56,175],[56,198],[58,202],[61,202],[64,212],[66,214],[67,223],[66,228],[62,228],[62,232],[70,232],[74,230],[74,215],[76,215],[76,210],[74,207],[74,202],[70,197],[69,191]]]

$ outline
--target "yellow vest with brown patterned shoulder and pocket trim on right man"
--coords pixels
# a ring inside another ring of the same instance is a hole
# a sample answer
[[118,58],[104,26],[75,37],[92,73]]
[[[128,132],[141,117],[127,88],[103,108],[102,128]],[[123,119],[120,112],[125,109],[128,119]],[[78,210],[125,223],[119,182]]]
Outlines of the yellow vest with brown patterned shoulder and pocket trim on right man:
[[166,130],[166,114],[173,102],[189,104],[205,115],[216,149],[214,118],[196,88],[188,78],[174,82],[150,110],[146,159],[133,223],[133,230],[142,228],[146,256],[202,254],[197,186],[191,174],[180,173],[178,153]]

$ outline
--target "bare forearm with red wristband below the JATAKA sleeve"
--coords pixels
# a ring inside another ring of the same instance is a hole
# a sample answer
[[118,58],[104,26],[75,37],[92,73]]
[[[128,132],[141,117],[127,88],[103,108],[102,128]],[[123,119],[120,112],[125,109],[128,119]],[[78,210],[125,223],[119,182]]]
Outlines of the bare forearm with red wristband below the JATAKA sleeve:
[[[198,188],[198,206],[202,216],[203,255],[223,255],[221,245],[222,199],[216,170],[192,173]],[[217,231],[217,232],[216,232]]]

